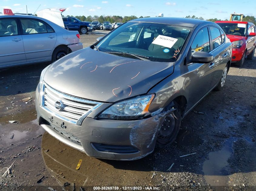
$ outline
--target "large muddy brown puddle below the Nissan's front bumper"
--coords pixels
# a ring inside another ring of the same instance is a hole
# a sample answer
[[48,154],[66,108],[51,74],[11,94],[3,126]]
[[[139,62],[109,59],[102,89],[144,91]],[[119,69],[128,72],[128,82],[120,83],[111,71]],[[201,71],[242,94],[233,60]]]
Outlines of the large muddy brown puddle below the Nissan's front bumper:
[[[42,138],[42,156],[46,167],[58,181],[74,182],[75,185],[143,185],[153,170],[152,156],[136,161],[92,158],[59,142],[47,132]],[[81,166],[75,170],[80,159]]]

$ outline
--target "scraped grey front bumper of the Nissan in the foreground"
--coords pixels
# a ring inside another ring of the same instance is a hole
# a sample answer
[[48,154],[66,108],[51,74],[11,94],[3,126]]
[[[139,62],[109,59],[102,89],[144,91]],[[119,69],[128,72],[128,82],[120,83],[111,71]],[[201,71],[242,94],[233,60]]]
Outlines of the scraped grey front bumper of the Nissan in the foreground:
[[[99,120],[86,117],[81,126],[65,122],[65,129],[62,129],[51,123],[51,114],[39,106],[39,92],[37,87],[35,102],[38,125],[66,145],[91,157],[112,160],[136,160],[153,152],[163,117],[153,116],[140,120]],[[54,119],[62,123],[61,119]],[[71,136],[75,137],[75,140],[71,139]],[[112,148],[118,149],[102,151],[97,147],[98,144],[105,147],[111,145]],[[134,150],[125,152],[124,148]]]

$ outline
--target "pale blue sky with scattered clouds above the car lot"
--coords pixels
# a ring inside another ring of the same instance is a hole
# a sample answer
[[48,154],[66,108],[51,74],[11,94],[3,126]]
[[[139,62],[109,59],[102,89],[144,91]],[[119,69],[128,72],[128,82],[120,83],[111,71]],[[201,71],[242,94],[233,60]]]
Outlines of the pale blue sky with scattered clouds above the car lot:
[[45,8],[67,8],[63,15],[86,17],[91,15],[119,15],[119,16],[158,16],[185,17],[195,15],[204,19],[229,19],[231,13],[241,13],[256,17],[255,0],[0,0],[0,12],[3,8],[11,8],[13,13],[34,14]]

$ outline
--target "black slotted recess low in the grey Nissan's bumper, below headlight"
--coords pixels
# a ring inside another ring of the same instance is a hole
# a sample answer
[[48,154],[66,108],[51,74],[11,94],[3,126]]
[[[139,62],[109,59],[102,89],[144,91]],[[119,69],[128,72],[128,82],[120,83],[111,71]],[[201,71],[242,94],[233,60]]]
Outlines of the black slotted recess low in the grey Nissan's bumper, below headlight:
[[131,154],[131,153],[137,153],[138,149],[130,146],[130,145],[106,145],[101,143],[92,143],[92,145],[98,150],[98,151],[104,151],[104,152],[112,152],[112,153],[118,153],[118,154]]

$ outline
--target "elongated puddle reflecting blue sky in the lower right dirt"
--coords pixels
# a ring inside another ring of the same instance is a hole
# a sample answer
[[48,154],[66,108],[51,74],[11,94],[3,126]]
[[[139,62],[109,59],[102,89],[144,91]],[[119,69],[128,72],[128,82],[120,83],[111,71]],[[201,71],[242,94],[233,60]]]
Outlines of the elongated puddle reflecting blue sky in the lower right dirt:
[[210,152],[209,159],[204,161],[204,179],[211,186],[228,185],[228,158],[233,152],[232,145],[235,140],[233,137],[227,139],[220,151]]

